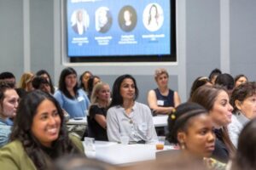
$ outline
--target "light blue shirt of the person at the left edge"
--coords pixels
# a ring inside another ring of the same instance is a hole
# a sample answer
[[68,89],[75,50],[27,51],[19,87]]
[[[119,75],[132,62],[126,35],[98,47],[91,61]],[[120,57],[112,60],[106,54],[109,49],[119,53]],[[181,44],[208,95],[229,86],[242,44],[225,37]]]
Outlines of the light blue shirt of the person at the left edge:
[[11,127],[7,122],[0,119],[0,148],[9,142],[9,134],[11,133]]

